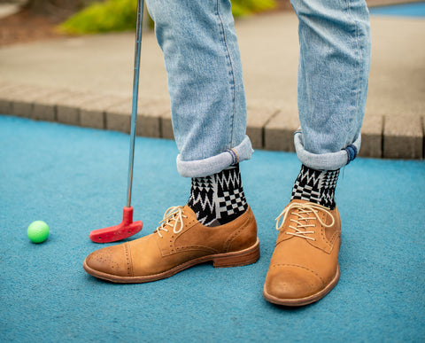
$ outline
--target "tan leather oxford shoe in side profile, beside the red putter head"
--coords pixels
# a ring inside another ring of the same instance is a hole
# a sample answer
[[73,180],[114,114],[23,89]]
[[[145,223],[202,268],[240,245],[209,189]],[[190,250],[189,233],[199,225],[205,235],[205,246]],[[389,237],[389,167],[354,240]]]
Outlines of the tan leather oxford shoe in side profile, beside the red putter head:
[[213,261],[214,267],[236,267],[257,260],[259,238],[251,207],[233,222],[206,227],[185,206],[169,208],[151,235],[90,253],[83,268],[115,283],[143,283],[205,261]]

